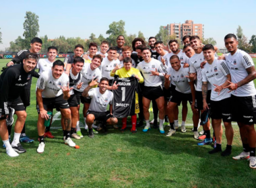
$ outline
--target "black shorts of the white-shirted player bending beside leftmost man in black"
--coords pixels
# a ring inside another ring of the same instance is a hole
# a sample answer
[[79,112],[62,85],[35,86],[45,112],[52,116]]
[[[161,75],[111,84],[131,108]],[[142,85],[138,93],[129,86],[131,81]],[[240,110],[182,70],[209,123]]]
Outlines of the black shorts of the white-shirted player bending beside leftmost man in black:
[[[59,95],[59,97],[54,97],[54,98],[42,97],[42,105],[44,105],[45,110],[53,107],[56,107],[59,109],[69,108],[69,103],[67,102],[67,100],[63,99],[63,95]],[[38,113],[40,113],[39,108],[38,108]]]

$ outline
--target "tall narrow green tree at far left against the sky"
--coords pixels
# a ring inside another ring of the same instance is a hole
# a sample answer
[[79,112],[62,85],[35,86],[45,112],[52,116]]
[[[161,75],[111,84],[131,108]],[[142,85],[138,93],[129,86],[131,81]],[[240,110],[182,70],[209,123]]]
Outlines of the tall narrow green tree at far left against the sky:
[[38,18],[38,15],[36,15],[35,13],[32,13],[31,11],[26,12],[25,21],[23,23],[23,36],[25,38],[26,46],[30,46],[32,38],[37,36],[39,32]]

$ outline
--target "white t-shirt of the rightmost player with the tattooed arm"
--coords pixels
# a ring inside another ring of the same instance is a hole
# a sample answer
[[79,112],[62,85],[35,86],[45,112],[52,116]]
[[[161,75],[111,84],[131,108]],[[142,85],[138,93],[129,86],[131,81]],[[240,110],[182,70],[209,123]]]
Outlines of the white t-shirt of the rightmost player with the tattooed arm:
[[[231,55],[230,53],[225,56],[226,63],[231,74],[231,82],[238,83],[248,76],[247,68],[254,66],[253,59],[249,54],[243,50],[237,49],[236,52]],[[253,81],[238,87],[235,91],[232,91],[232,95],[238,97],[248,97],[256,95],[256,89]]]

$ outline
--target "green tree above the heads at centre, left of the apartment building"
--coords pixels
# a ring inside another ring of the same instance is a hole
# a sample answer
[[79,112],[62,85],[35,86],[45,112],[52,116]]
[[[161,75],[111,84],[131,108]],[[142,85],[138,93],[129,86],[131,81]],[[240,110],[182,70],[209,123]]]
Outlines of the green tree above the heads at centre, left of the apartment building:
[[106,34],[109,36],[106,40],[108,40],[110,46],[117,46],[117,36],[123,35],[126,38],[125,21],[113,21],[108,27],[109,30],[106,31]]

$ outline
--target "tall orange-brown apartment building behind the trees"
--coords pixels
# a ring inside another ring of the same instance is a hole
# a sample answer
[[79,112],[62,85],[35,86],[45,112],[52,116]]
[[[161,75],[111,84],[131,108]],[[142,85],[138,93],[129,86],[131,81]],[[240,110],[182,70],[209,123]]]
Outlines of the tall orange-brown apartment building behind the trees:
[[165,30],[168,30],[168,35],[176,35],[177,38],[181,39],[186,35],[196,35],[199,38],[203,38],[204,25],[201,23],[194,23],[193,20],[186,20],[185,23],[170,23],[164,26]]

